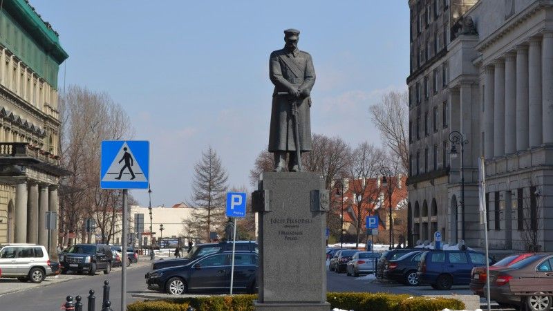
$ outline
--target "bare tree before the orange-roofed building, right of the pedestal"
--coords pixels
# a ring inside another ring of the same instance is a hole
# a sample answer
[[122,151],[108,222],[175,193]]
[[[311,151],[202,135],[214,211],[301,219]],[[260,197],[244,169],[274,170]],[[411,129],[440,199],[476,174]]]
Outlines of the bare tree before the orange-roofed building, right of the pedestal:
[[348,162],[348,211],[350,223],[355,226],[356,246],[364,232],[366,216],[377,207],[381,189],[378,185],[380,168],[386,159],[384,151],[373,144],[364,142],[355,148]]

